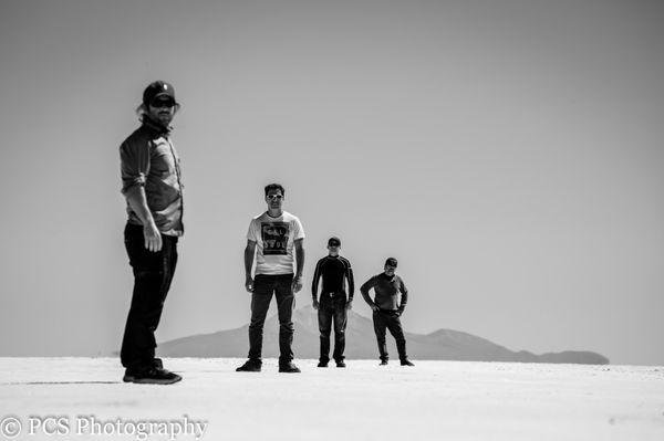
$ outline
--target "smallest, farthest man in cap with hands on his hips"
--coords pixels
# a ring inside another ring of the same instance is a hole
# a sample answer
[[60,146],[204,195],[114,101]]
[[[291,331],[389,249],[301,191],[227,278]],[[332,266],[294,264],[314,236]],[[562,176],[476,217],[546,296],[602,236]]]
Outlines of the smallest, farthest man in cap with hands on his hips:
[[[396,259],[390,258],[385,261],[384,271],[381,274],[374,275],[366,281],[360,292],[364,301],[373,309],[374,332],[378,343],[378,353],[381,354],[381,365],[387,365],[390,356],[385,344],[385,329],[390,329],[390,334],[396,340],[396,349],[402,366],[414,366],[406,355],[406,338],[401,325],[401,315],[408,303],[408,290],[404,281],[395,274]],[[374,288],[375,296],[372,301],[369,296],[369,291]],[[401,293],[401,303],[398,294]]]

